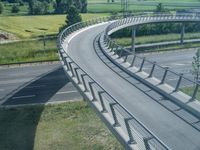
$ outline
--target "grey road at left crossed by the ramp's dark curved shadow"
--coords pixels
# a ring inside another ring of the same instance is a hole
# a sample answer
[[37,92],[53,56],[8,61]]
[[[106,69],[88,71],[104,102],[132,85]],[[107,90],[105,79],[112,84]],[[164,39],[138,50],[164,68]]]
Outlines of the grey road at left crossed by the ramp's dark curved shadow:
[[0,104],[80,100],[60,64],[0,69]]

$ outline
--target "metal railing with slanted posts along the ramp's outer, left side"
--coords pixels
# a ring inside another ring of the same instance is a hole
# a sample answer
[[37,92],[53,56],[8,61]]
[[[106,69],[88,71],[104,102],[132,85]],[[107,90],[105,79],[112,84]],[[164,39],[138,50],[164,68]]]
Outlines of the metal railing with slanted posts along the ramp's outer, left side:
[[[129,138],[128,146],[136,144],[141,150],[170,149],[158,137],[156,137],[142,122],[140,122],[133,114],[131,114],[118,100],[110,95],[98,82],[87,74],[73,59],[67,54],[67,44],[65,41],[71,33],[84,27],[106,22],[107,18],[99,18],[87,22],[77,23],[66,28],[59,34],[57,46],[59,48],[59,56],[68,76],[79,89],[82,94],[86,95],[90,102],[98,103],[100,108],[98,111],[102,114],[107,113],[112,118],[112,127],[121,127],[123,132]],[[90,96],[88,96],[88,93]],[[95,105],[95,104],[94,104]]]

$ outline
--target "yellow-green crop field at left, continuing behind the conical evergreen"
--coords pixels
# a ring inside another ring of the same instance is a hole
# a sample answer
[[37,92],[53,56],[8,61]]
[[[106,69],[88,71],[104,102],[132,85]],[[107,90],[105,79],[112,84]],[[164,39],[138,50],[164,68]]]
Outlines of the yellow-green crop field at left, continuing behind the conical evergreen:
[[[82,14],[83,20],[107,16],[109,14]],[[65,22],[66,15],[44,16],[1,16],[0,30],[10,32],[19,38],[34,38],[38,36],[57,34]]]

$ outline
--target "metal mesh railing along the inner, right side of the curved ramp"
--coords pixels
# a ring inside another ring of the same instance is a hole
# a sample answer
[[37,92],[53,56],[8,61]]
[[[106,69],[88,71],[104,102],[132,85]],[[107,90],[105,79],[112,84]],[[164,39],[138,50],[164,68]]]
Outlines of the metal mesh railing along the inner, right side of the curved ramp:
[[[157,16],[157,17],[156,17]],[[172,88],[172,92],[182,91],[186,95],[189,95],[188,101],[196,100],[196,97],[200,94],[198,81],[185,77],[182,73],[177,73],[169,69],[169,67],[162,67],[156,62],[149,61],[145,57],[138,56],[131,50],[126,49],[111,39],[110,34],[117,31],[120,26],[124,24],[138,25],[143,23],[153,23],[157,21],[195,21],[200,22],[200,14],[178,14],[178,15],[154,15],[154,16],[137,16],[128,17],[111,23],[103,35],[103,44],[118,56],[118,59],[123,59],[123,62],[129,62],[131,67],[136,68],[137,72],[145,72],[147,78],[157,78],[159,84],[168,84]],[[191,60],[192,61],[192,60]]]

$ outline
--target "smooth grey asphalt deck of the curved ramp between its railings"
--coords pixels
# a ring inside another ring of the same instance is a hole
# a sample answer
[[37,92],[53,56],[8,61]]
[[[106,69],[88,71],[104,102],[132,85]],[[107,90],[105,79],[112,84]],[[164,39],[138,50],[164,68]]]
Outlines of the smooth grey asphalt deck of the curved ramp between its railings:
[[[161,95],[143,85],[143,88],[152,92],[154,97],[145,95],[143,91],[106,66],[97,56],[93,41],[105,27],[105,24],[101,24],[79,31],[80,33],[69,42],[70,57],[171,149],[199,150],[200,132],[191,125],[198,122],[198,118],[186,116],[191,119],[191,124],[185,122],[155,101],[159,100]],[[135,84],[138,84],[137,80]],[[169,102],[167,99],[163,101]],[[179,109],[175,104],[171,105],[171,109]]]

